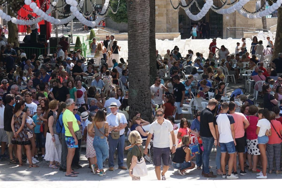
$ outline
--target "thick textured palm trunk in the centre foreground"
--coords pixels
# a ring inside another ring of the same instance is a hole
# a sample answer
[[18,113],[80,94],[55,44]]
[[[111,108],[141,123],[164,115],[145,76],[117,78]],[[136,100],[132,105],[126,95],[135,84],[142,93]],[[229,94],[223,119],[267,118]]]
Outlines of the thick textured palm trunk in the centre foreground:
[[[128,68],[129,111],[139,111],[142,118],[152,122],[150,92],[149,41],[149,0],[127,0],[128,16]],[[138,46],[138,48],[136,47]],[[132,116],[132,114],[131,114]]]

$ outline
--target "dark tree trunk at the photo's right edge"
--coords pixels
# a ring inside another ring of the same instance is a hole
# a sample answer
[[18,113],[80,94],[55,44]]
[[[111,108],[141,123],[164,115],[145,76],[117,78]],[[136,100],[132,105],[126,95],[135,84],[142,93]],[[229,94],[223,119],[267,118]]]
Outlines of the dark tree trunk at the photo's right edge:
[[274,43],[274,51],[272,59],[278,57],[278,53],[282,52],[282,9],[279,8],[277,13],[277,29],[276,29],[276,36],[275,36],[275,43]]

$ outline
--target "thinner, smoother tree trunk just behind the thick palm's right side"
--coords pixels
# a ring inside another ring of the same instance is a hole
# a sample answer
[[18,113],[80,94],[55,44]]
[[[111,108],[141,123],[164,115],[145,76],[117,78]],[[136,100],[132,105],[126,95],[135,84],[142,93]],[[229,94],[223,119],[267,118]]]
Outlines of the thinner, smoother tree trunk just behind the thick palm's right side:
[[150,0],[149,6],[150,6],[150,18],[149,18],[150,85],[153,85],[155,84],[155,77],[157,77],[155,0]]

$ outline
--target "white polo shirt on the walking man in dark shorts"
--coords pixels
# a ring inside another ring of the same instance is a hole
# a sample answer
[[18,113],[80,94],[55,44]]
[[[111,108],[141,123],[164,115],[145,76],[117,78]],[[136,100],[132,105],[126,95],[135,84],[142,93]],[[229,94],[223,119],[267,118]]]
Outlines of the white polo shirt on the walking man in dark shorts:
[[154,147],[169,147],[169,132],[171,131],[173,126],[169,120],[164,119],[162,125],[158,124],[158,120],[154,121],[149,128],[149,133],[154,134]]

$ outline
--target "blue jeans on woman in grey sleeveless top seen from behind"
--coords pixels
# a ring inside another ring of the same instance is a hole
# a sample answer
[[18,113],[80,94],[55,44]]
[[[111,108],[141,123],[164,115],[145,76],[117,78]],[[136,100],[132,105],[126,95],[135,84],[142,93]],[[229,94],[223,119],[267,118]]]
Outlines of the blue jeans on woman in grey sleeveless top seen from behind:
[[109,146],[107,144],[107,138],[100,138],[100,136],[94,136],[93,147],[96,151],[98,169],[103,169],[103,162],[109,156]]

